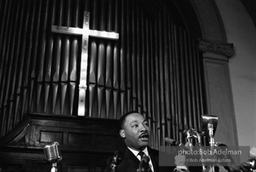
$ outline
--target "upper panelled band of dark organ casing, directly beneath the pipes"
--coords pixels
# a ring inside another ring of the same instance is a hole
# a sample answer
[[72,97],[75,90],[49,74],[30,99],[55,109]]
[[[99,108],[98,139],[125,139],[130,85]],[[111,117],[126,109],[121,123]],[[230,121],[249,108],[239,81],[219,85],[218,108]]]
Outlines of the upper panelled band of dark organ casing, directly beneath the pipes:
[[53,141],[65,150],[94,152],[118,149],[118,120],[26,114],[15,130],[0,139],[0,146],[43,148]]

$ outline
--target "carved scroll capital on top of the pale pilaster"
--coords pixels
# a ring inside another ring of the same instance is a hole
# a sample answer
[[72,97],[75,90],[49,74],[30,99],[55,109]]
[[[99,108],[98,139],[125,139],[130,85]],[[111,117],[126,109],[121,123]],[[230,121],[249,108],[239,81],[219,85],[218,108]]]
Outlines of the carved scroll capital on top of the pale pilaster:
[[199,39],[199,50],[201,50],[201,52],[224,55],[228,58],[231,58],[234,55],[233,44],[220,43],[213,40]]

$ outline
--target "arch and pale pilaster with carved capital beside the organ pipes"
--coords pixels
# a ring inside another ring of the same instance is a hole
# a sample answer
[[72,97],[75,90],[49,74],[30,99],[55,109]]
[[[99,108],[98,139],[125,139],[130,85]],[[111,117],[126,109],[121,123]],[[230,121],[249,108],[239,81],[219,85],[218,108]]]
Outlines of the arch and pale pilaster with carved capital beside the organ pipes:
[[[174,0],[186,21],[186,26],[199,38],[203,52],[205,89],[208,115],[219,118],[215,141],[229,146],[238,145],[234,103],[230,82],[228,60],[234,56],[234,46],[227,42],[222,17],[213,0]],[[193,20],[194,19],[194,20]],[[229,130],[226,130],[229,128]],[[239,161],[236,159],[236,161]]]

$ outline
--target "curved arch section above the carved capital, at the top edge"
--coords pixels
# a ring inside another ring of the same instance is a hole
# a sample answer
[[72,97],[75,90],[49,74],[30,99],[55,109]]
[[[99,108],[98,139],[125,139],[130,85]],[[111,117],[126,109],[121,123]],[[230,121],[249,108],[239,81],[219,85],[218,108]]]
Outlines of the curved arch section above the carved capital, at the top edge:
[[227,42],[222,17],[215,1],[174,0],[173,3],[180,12],[191,35],[204,40]]

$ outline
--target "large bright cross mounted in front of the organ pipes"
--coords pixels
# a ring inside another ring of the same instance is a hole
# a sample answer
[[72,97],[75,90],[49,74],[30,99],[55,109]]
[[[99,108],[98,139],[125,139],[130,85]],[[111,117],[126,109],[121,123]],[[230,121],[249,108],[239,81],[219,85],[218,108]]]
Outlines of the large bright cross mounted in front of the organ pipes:
[[119,34],[114,32],[105,32],[89,29],[90,13],[84,11],[84,24],[82,28],[71,28],[63,26],[51,26],[51,32],[59,34],[72,34],[82,36],[82,52],[81,52],[81,72],[79,84],[79,104],[78,116],[84,116],[85,112],[85,96],[87,89],[87,62],[88,62],[88,38],[89,36],[95,38],[105,38],[110,40],[118,40]]

